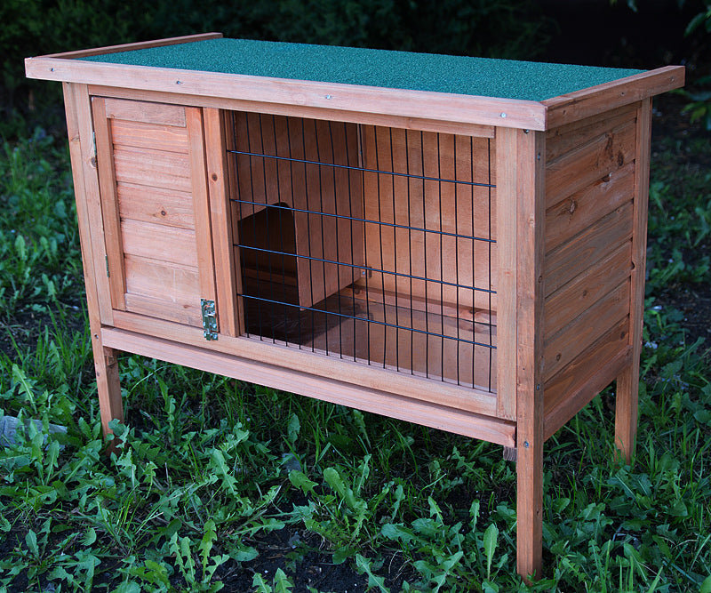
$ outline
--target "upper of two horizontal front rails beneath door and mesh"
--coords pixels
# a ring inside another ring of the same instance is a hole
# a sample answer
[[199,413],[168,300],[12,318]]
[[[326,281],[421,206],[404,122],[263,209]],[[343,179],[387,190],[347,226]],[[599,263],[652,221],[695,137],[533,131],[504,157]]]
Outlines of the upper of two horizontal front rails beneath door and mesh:
[[[116,327],[134,333],[155,335],[198,348],[204,348],[207,343],[202,330],[196,328],[124,311],[116,311],[115,317]],[[223,335],[220,335],[219,340],[210,342],[209,347],[217,352],[249,358],[267,365],[282,366],[324,377],[337,377],[340,381],[349,381],[367,389],[430,400],[438,405],[496,417],[496,397],[491,393],[461,388],[445,382],[429,381],[406,373],[363,365],[338,356],[312,356],[310,348],[303,351],[296,347],[286,347],[276,341],[231,338]]]

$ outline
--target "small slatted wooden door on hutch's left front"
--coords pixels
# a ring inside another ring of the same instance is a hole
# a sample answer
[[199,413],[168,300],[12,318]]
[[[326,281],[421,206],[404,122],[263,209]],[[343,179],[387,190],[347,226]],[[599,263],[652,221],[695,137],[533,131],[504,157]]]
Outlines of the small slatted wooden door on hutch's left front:
[[203,325],[215,300],[200,108],[92,100],[112,308]]

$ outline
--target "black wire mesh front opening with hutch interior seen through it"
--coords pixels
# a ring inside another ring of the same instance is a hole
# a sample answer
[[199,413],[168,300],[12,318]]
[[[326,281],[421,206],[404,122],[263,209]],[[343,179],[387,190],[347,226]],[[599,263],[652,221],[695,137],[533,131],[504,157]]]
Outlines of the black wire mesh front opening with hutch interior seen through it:
[[227,122],[244,334],[494,392],[491,140]]

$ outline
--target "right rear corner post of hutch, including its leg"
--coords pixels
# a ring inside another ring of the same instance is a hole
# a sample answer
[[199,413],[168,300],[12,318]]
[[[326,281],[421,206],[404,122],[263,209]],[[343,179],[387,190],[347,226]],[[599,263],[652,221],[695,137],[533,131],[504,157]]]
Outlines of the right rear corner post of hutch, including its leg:
[[627,463],[635,454],[637,399],[639,393],[639,357],[642,350],[644,316],[644,268],[647,250],[647,199],[649,194],[651,140],[651,99],[642,101],[637,110],[635,147],[634,229],[632,234],[632,295],[630,299],[630,346],[632,364],[617,378],[615,404],[615,445]]

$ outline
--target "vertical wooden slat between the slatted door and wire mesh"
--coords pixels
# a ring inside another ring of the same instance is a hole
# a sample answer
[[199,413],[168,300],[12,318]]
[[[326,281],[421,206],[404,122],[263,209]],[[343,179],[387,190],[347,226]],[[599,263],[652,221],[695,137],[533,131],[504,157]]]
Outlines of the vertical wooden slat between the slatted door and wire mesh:
[[223,121],[220,109],[205,108],[203,117],[220,333],[238,336],[244,333],[244,320],[238,313],[235,292],[235,258],[232,247],[234,240],[230,220]]

